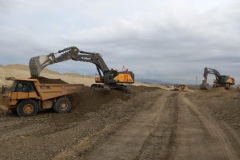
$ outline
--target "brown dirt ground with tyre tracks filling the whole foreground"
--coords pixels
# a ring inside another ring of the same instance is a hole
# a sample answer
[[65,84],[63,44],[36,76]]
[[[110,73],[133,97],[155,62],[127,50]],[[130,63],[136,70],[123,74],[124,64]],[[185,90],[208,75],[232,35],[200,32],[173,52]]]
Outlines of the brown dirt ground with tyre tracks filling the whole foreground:
[[240,159],[240,93],[132,90],[131,95],[90,90],[73,95],[69,114],[45,111],[20,118],[0,112],[0,157]]

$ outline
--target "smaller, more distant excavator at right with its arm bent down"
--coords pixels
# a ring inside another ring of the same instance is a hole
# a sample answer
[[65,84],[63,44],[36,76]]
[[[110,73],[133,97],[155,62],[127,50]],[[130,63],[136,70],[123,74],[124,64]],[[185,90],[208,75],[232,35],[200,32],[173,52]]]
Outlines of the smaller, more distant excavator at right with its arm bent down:
[[227,76],[227,75],[221,75],[216,69],[212,68],[204,68],[204,73],[203,73],[203,81],[200,84],[200,89],[202,90],[210,90],[210,86],[207,83],[207,76],[208,74],[214,74],[215,79],[213,81],[213,88],[216,87],[224,87],[225,89],[229,89],[231,85],[235,84],[235,79]]

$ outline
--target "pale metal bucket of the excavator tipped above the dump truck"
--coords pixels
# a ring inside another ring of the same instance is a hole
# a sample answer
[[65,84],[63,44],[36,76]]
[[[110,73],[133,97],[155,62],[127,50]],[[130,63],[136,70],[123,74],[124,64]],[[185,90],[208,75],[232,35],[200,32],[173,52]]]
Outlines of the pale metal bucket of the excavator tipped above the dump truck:
[[49,58],[49,55],[32,57],[29,60],[29,69],[31,77],[39,77],[40,72],[50,64],[51,59]]

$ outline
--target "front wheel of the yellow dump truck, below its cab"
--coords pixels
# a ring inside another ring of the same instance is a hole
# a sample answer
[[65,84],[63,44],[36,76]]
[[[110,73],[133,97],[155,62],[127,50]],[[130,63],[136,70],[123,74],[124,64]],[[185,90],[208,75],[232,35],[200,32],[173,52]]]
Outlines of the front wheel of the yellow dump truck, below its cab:
[[17,114],[21,117],[35,116],[38,112],[38,104],[32,99],[27,99],[19,103]]

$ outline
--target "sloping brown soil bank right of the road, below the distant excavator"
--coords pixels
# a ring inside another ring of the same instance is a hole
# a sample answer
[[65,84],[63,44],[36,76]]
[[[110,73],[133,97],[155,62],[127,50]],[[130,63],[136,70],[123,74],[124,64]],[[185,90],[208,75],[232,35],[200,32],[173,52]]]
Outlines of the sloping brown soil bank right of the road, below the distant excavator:
[[197,105],[207,108],[217,120],[228,123],[240,133],[240,92],[235,88],[214,88],[210,91],[201,91],[188,94],[188,97]]

